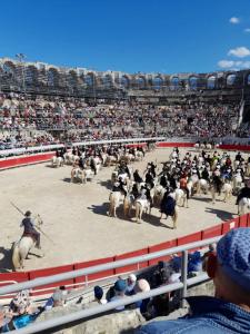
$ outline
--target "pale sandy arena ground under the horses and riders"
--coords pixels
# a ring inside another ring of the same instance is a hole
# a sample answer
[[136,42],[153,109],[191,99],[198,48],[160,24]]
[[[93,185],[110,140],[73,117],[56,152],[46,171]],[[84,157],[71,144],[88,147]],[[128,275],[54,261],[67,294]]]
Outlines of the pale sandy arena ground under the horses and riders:
[[[162,168],[172,149],[157,149],[148,153],[142,163],[134,163],[133,169],[144,171],[148,161],[157,161]],[[187,149],[181,149],[181,155]],[[192,155],[194,151],[192,150]],[[231,157],[234,156],[230,153]],[[247,158],[247,155],[244,156]],[[32,249],[26,261],[26,269],[44,268],[118,255],[143,248],[174,237],[219,224],[237,217],[236,197],[223,203],[221,195],[213,205],[210,195],[194,195],[189,208],[179,209],[177,229],[171,218],[160,220],[159,209],[151,215],[143,214],[142,224],[134,218],[124,219],[122,204],[117,218],[108,216],[110,178],[114,167],[103,167],[93,180],[87,184],[71,184],[71,166],[51,168],[50,163],[3,170],[0,173],[0,269],[11,269],[11,245],[22,234],[21,210],[30,209],[43,219],[43,232],[53,239],[41,236],[44,257],[36,256]],[[160,171],[159,170],[159,171]],[[134,215],[133,215],[134,216]]]

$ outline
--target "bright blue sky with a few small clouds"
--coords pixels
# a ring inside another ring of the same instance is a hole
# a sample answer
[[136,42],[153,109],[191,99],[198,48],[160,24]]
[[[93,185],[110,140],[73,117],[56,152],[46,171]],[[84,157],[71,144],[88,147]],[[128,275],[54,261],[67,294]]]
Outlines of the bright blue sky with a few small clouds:
[[0,10],[0,57],[127,72],[250,68],[250,0],[8,0]]

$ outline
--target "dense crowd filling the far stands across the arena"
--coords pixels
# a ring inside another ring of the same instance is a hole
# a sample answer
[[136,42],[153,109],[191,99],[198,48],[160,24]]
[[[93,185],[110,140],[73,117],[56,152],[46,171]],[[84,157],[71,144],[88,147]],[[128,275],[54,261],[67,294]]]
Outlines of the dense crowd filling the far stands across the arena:
[[0,140],[2,145],[18,146],[22,141],[46,145],[57,140],[72,143],[153,136],[248,137],[249,129],[238,129],[239,110],[238,104],[187,101],[153,106],[119,101],[91,106],[80,98],[2,94],[0,131],[4,135]]

